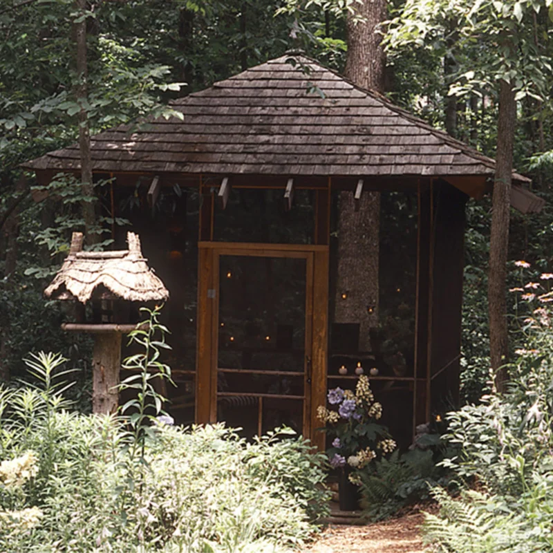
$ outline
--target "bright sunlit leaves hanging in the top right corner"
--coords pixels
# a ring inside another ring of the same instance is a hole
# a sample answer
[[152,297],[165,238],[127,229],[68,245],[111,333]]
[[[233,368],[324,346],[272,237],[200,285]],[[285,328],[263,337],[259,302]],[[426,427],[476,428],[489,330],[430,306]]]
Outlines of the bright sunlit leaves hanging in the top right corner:
[[[517,100],[549,93],[550,57],[536,41],[532,14],[550,0],[407,0],[388,22],[388,50],[455,44],[459,74],[452,95],[494,88],[505,79]],[[463,71],[465,68],[465,71]]]

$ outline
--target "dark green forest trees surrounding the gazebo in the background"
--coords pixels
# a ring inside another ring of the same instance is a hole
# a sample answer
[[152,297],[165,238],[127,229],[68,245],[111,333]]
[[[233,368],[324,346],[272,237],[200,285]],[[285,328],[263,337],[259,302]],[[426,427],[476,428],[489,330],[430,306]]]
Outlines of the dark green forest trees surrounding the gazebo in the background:
[[[91,133],[146,114],[169,115],[167,102],[200,90],[290,48],[303,48],[322,64],[343,72],[346,17],[353,1],[275,2],[266,0],[142,0],[88,3],[88,95],[76,102],[75,35],[82,12],[73,0],[0,1],[0,377],[18,377],[29,350],[60,351],[87,368],[90,344],[59,330],[64,314],[42,297],[59,266],[72,229],[84,225],[82,190],[57,189],[33,199],[32,180],[19,164],[75,142],[79,116],[86,112]],[[447,3],[439,26],[423,28],[411,46],[388,52],[386,95],[429,123],[494,157],[498,139],[498,63],[503,53],[493,21],[460,40],[459,22],[477,3]],[[521,64],[552,55],[551,9],[531,1],[480,2],[505,18]],[[440,2],[412,1],[425,10]],[[388,3],[395,17],[405,3]],[[451,6],[449,6],[451,8]],[[465,10],[465,12],[462,12]],[[278,15],[276,15],[278,12]],[[424,20],[424,17],[422,17]],[[492,18],[493,19],[493,18]],[[514,24],[514,26],[513,26]],[[480,32],[480,36],[478,33]],[[492,41],[485,41],[485,33]],[[397,35],[396,37],[397,38]],[[401,42],[400,37],[396,43]],[[393,40],[392,40],[393,42]],[[404,40],[405,44],[409,41]],[[417,47],[418,46],[418,47]],[[535,66],[535,64],[534,64]],[[475,68],[476,71],[467,71]],[[513,81],[523,71],[513,68]],[[520,285],[514,261],[524,259],[550,271],[553,252],[553,104],[549,71],[520,77],[516,96],[514,166],[533,178],[532,190],[546,200],[541,214],[511,213],[507,288]],[[533,84],[540,81],[536,90]],[[463,304],[462,396],[474,401],[489,377],[487,275],[491,199],[467,206]],[[100,227],[112,222],[97,221]],[[510,315],[515,301],[508,300]],[[513,317],[514,320],[514,317]],[[513,330],[516,328],[512,327]],[[516,340],[512,340],[512,344]],[[83,371],[86,378],[87,371]],[[88,371],[89,374],[89,371]],[[82,404],[88,404],[86,387]]]

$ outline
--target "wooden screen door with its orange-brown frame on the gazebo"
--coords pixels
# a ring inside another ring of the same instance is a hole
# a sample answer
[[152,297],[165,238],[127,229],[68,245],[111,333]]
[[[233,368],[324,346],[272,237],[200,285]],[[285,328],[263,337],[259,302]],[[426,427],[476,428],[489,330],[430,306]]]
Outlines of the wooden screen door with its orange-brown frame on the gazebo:
[[197,422],[286,425],[321,447],[328,247],[199,243]]

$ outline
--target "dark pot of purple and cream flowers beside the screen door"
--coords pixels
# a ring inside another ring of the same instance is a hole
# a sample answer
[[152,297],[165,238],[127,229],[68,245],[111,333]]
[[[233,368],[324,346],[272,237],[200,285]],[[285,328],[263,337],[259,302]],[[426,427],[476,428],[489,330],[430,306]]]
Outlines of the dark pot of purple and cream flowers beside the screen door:
[[327,400],[328,406],[317,408],[317,416],[332,438],[332,447],[326,453],[330,466],[339,470],[340,509],[354,511],[359,497],[355,471],[391,453],[396,444],[386,427],[377,422],[382,417],[382,405],[375,402],[366,375],[359,376],[355,393],[333,388]]

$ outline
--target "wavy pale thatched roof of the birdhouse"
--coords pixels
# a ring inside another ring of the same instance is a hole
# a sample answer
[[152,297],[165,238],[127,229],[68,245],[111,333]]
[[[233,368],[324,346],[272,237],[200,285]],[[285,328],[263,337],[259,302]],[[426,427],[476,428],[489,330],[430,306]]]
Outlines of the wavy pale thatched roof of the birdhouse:
[[74,232],[71,250],[44,294],[53,299],[77,299],[86,303],[104,288],[126,301],[165,301],[169,291],[148,267],[140,250],[140,238],[127,233],[129,250],[83,252],[82,233]]

